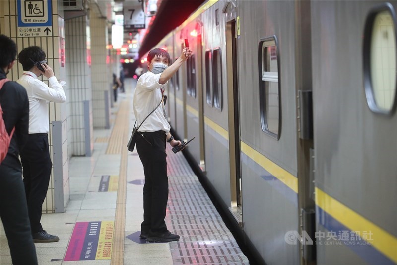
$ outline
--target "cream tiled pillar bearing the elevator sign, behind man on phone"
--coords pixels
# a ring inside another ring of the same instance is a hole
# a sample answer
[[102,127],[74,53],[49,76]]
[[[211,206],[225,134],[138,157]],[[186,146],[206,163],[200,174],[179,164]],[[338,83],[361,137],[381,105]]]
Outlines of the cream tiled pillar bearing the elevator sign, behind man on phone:
[[[46,2],[45,2],[46,3]],[[61,6],[58,6],[57,0],[52,0],[52,26],[51,33],[52,36],[48,37],[19,37],[17,34],[17,2],[16,0],[0,0],[0,33],[12,38],[18,46],[18,53],[26,47],[29,46],[40,46],[47,54],[47,60],[49,66],[54,69],[54,73],[59,80],[66,79],[65,64],[61,64],[61,55],[63,53],[62,48],[64,47],[64,19],[63,10]],[[15,63],[8,78],[14,81],[22,75],[23,69],[22,65]],[[47,78],[40,77],[44,82],[48,82]],[[66,96],[69,94],[67,87],[65,88]],[[66,100],[69,100],[66,98]],[[67,155],[67,104],[59,103],[49,103],[49,113],[50,113],[50,154],[54,162],[53,157],[53,143],[52,143],[52,131],[51,122],[61,121],[62,124],[62,154],[60,154],[62,162],[62,174],[64,186],[64,206],[68,202],[69,198],[69,176],[68,176],[68,155]],[[50,185],[47,193],[47,198],[43,204],[44,212],[55,212],[54,205],[54,176],[51,174]]]

